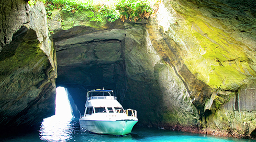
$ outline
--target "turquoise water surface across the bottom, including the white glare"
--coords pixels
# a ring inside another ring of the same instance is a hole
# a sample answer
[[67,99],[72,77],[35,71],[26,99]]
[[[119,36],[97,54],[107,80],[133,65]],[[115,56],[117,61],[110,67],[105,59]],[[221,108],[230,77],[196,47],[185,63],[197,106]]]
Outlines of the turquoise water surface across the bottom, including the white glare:
[[38,131],[19,134],[0,134],[0,141],[255,141],[174,132],[153,128],[133,128],[132,133],[124,137],[98,135],[82,131],[77,119],[63,119],[52,116],[44,119]]

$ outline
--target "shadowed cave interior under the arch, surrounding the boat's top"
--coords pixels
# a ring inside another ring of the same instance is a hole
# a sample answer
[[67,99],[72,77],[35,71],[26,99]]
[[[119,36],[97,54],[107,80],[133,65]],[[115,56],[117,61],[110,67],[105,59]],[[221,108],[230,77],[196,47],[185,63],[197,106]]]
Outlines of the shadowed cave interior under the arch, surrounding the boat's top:
[[152,56],[144,53],[150,45],[146,33],[144,23],[122,22],[105,30],[76,26],[55,32],[52,39],[58,65],[56,86],[68,89],[81,114],[86,92],[104,88],[114,90],[124,109],[140,112],[138,125],[159,125],[163,99],[154,70],[165,65],[153,67]]

